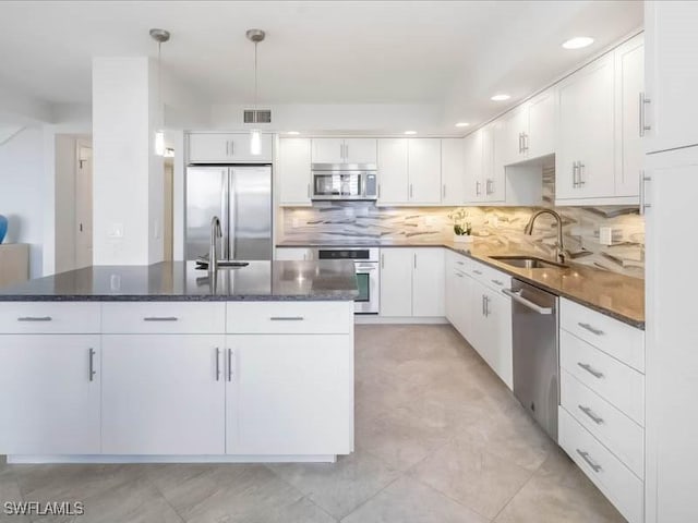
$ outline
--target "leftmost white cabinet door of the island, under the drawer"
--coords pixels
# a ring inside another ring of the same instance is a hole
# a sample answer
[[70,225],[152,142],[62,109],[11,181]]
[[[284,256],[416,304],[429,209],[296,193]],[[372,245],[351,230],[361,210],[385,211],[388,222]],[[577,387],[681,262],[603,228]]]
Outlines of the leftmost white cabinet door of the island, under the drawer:
[[0,453],[99,453],[100,342],[0,336]]

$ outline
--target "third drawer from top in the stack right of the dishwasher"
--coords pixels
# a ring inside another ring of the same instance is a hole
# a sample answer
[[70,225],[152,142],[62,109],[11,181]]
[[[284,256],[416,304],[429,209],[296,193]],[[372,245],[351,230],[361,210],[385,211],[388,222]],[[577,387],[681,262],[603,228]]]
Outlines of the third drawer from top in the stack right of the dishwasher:
[[636,476],[645,477],[645,430],[611,403],[562,372],[561,404]]

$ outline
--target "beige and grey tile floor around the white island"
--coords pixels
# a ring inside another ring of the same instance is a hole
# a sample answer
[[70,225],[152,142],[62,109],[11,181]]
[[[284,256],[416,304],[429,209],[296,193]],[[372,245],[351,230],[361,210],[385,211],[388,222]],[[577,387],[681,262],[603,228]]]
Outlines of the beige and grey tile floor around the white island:
[[336,464],[0,464],[0,501],[80,500],[80,523],[624,521],[453,328],[356,342],[357,451]]

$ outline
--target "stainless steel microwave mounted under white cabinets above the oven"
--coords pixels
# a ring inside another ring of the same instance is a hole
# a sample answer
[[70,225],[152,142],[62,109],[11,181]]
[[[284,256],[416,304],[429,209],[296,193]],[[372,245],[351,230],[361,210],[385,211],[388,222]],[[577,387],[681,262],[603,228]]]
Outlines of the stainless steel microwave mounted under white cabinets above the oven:
[[313,163],[312,199],[377,199],[374,163]]

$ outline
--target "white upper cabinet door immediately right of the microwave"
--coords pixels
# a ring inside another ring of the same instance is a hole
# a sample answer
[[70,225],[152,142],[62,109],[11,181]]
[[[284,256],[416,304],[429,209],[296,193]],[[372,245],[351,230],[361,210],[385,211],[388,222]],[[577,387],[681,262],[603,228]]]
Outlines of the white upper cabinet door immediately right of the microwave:
[[407,139],[378,138],[377,205],[399,205],[409,202]]

